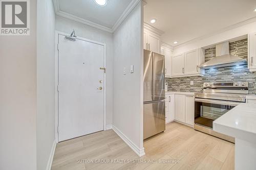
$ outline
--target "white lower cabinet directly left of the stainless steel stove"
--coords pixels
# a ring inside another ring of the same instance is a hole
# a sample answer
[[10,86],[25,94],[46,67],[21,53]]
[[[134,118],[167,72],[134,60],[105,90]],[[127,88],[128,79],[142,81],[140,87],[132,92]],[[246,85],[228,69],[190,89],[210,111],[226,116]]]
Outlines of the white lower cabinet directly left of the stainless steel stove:
[[[168,105],[168,110],[173,108],[175,117],[178,122],[194,126],[195,113],[195,98],[194,95],[173,94],[171,104]],[[172,103],[172,101],[174,103]]]

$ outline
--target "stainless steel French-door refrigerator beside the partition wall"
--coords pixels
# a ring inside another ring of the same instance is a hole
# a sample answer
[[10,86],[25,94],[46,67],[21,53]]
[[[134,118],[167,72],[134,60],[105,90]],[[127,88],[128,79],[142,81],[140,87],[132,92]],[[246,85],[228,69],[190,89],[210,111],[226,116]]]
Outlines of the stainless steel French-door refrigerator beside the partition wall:
[[164,56],[144,50],[143,139],[165,131]]

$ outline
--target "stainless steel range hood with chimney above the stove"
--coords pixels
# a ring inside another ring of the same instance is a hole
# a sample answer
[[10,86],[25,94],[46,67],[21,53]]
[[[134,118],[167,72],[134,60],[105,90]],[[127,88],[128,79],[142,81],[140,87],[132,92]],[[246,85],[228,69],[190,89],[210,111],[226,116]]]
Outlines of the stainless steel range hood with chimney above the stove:
[[200,65],[200,68],[220,68],[234,65],[247,64],[247,60],[229,54],[229,42],[216,45],[216,57]]

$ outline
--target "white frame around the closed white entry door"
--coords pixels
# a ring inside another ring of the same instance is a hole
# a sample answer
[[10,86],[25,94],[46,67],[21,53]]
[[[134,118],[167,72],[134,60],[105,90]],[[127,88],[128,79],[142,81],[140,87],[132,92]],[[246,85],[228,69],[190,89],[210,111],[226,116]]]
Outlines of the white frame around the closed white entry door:
[[[55,81],[54,81],[54,91],[55,91],[55,139],[56,142],[58,143],[59,139],[58,139],[58,35],[69,35],[69,33],[63,33],[63,32],[59,32],[59,31],[55,31]],[[96,43],[99,45],[103,45],[104,47],[104,54],[103,54],[103,62],[104,62],[104,67],[106,68],[106,44],[102,43],[102,42],[97,42],[94,40],[90,40],[87,38],[83,38],[83,37],[76,37],[76,39],[79,40],[83,40],[83,41],[88,41],[88,42],[92,42],[92,43]],[[103,71],[103,70],[102,70]],[[103,120],[103,128],[104,130],[106,130],[106,74],[104,73],[104,81],[103,81],[103,95],[104,95],[104,102],[103,102],[103,114],[104,114],[104,120]]]

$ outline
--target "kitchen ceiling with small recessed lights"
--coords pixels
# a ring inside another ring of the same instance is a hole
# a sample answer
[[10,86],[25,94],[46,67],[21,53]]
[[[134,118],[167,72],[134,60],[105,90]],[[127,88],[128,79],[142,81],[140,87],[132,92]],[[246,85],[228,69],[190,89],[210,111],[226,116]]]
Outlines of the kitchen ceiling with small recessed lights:
[[255,0],[144,1],[144,22],[163,31],[161,40],[173,46],[256,17]]

